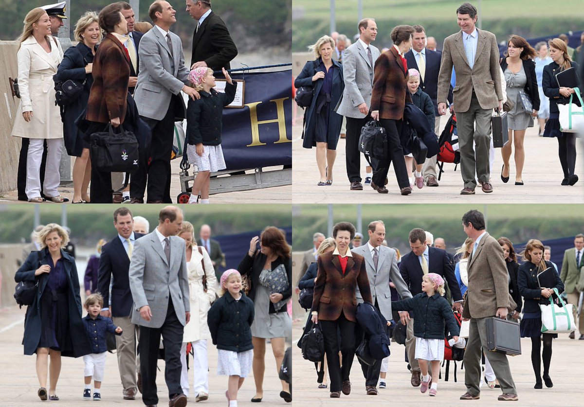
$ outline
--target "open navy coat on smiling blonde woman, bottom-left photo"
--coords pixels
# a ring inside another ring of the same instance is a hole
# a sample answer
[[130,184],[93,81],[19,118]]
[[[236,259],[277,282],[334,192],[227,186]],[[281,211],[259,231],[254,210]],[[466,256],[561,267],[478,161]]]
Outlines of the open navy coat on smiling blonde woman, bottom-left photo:
[[[39,252],[31,252],[14,276],[17,283],[21,281],[39,282],[34,301],[26,308],[25,335],[23,339],[25,355],[32,355],[36,352],[41,335],[41,296],[47,286],[48,273],[42,273],[39,276],[35,276],[34,273],[41,265],[48,264],[50,254],[48,254],[47,248],[41,250],[40,253],[41,255],[39,256]],[[68,328],[73,349],[72,352],[61,352],[61,356],[79,357],[88,355],[88,353],[91,353],[91,346],[89,345],[89,340],[87,339],[87,335],[85,335],[85,327],[81,321],[81,295],[79,294],[79,276],[77,274],[77,267],[75,266],[75,259],[62,250],[61,256],[65,267],[65,275],[67,275],[67,297],[69,303]]]

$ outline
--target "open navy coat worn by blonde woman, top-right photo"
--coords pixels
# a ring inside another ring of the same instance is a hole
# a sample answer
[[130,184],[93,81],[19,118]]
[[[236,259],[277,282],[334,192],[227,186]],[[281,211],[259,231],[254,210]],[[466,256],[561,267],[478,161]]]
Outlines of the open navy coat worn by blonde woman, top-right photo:
[[[312,76],[315,73],[322,71],[320,68],[321,58],[315,59],[314,61],[308,61],[300,75],[294,80],[294,87],[298,88],[301,86],[314,86],[314,97],[312,97],[312,103],[310,107],[307,108],[305,112],[305,125],[304,125],[304,141],[302,146],[304,148],[312,148],[317,145],[314,138],[314,127],[316,119],[316,108],[318,94],[321,92],[323,79],[318,79],[316,82],[312,82]],[[340,135],[340,127],[343,124],[342,115],[336,113],[335,108],[339,103],[340,98],[343,96],[343,90],[345,90],[345,81],[343,80],[343,66],[339,64],[338,61],[332,61],[332,91],[331,91],[331,103],[329,104],[329,109],[331,110],[329,116],[328,125],[328,136],[327,140],[338,138]]]

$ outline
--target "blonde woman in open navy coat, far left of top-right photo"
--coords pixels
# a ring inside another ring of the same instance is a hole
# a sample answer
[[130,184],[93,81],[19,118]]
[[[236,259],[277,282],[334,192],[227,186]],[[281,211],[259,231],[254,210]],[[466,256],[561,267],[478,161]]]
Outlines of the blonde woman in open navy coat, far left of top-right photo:
[[320,173],[318,185],[332,185],[332,168],[336,159],[342,115],[335,112],[336,105],[345,89],[343,68],[333,61],[335,41],[322,36],[308,47],[317,59],[308,61],[294,86],[314,86],[310,107],[304,113],[304,148],[317,148],[317,166]]

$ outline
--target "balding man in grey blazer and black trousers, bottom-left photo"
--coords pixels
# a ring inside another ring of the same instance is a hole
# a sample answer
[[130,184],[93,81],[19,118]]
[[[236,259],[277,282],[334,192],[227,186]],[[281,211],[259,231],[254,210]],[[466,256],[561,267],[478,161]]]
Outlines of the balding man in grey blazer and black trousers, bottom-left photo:
[[169,406],[185,407],[187,401],[180,387],[180,346],[190,320],[185,241],[176,236],[182,221],[182,210],[176,206],[162,208],[158,227],[135,241],[130,261],[131,320],[140,325],[142,401],[147,406],[158,404],[156,371],[161,335]]

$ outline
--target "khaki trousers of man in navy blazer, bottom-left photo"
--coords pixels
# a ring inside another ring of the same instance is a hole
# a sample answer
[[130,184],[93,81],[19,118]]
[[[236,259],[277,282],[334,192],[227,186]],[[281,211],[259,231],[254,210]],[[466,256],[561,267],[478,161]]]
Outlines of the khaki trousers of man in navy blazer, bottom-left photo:
[[121,385],[124,390],[137,392],[136,372],[140,371],[140,358],[136,357],[136,347],[140,341],[140,327],[131,322],[130,317],[113,317],[113,323],[123,329],[116,335],[117,365],[120,370]]

